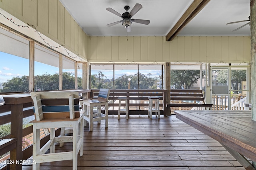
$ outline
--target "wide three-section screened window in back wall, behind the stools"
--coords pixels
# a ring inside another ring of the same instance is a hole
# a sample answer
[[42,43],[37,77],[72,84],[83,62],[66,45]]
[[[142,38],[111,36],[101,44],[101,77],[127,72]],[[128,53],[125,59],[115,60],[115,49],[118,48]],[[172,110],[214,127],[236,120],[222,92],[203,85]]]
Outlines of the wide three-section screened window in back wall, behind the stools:
[[92,64],[90,88],[162,89],[162,68],[162,64]]

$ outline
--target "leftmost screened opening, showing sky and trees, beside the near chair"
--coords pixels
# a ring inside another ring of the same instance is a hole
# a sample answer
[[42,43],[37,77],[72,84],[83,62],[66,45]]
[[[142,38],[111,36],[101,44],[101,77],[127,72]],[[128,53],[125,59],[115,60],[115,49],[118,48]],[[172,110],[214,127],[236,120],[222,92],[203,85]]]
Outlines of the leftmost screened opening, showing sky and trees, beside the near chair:
[[0,28],[0,92],[28,92],[29,42]]

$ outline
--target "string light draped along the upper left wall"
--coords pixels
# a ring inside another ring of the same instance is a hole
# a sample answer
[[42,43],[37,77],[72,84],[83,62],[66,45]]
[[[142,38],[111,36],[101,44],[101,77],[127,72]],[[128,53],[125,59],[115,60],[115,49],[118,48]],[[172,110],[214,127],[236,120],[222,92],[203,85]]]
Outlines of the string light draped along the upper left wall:
[[15,21],[12,20],[12,18],[9,19],[9,18],[7,18],[6,16],[4,16],[4,14],[2,14],[2,13],[0,13],[0,15],[3,16],[4,18],[6,18],[7,20],[11,21],[14,25],[16,25],[16,26],[18,26],[18,27],[23,27],[23,28],[28,28],[28,29],[29,29],[29,27],[34,28],[34,29],[35,29],[35,32],[38,33],[39,38],[41,38],[41,39],[44,41],[44,43],[46,43],[46,45],[48,45],[51,49],[59,49],[60,47],[63,47],[64,50],[66,51],[67,55],[68,55],[70,58],[72,58],[72,59],[80,59],[80,61],[82,61],[82,59],[81,59],[81,57],[79,57],[79,55],[77,55],[77,56],[75,56],[75,57],[71,56],[70,53],[68,52],[68,50],[64,47],[64,45],[59,45],[59,46],[52,46],[52,45],[50,45],[50,43],[48,43],[48,42],[41,36],[42,33],[40,33],[40,32],[36,29],[36,26],[34,26],[34,25],[32,25],[32,24],[28,24],[28,23],[27,23],[27,25],[19,25],[19,24],[15,23]]

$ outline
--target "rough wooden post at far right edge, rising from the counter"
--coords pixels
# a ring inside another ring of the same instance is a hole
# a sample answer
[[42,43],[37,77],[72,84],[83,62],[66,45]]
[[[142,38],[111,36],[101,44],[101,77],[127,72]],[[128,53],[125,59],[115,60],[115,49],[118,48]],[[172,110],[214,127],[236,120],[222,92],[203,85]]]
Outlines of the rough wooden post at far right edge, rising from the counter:
[[256,1],[250,1],[250,25],[251,25],[251,103],[252,120],[256,121]]

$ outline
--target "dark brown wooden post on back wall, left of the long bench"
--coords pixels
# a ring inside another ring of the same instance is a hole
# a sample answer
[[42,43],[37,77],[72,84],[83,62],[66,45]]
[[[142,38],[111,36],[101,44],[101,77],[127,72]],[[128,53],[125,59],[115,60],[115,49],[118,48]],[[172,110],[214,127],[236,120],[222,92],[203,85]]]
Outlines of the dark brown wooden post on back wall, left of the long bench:
[[[164,65],[164,79],[165,79],[165,89],[166,89],[166,96],[165,101],[166,103],[170,103],[171,98],[171,63],[165,63]],[[164,102],[164,105],[166,104]],[[164,106],[166,109],[166,115],[171,115],[170,107]]]

